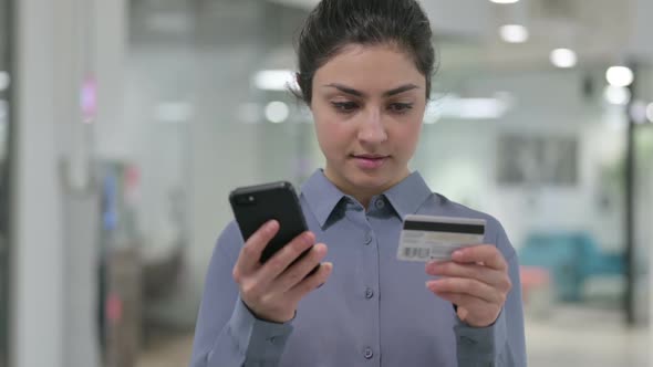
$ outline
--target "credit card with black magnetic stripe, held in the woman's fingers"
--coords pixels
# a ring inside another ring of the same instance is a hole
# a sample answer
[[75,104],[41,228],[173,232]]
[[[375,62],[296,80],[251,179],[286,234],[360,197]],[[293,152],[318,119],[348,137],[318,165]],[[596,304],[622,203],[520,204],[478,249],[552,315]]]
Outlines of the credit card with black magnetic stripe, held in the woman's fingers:
[[481,244],[485,226],[485,219],[408,214],[404,218],[397,260],[450,260],[456,250]]

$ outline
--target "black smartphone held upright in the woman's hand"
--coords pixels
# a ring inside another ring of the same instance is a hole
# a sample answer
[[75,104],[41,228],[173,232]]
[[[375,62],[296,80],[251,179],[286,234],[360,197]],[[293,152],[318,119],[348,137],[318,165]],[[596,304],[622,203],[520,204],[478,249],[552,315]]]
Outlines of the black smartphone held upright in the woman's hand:
[[[279,232],[268,243],[261,254],[261,263],[268,261],[277,251],[299,234],[308,231],[301,206],[292,184],[287,181],[240,187],[229,195],[231,210],[247,241],[269,220],[279,222]],[[303,258],[304,251],[296,261]],[[313,274],[320,265],[311,271]]]

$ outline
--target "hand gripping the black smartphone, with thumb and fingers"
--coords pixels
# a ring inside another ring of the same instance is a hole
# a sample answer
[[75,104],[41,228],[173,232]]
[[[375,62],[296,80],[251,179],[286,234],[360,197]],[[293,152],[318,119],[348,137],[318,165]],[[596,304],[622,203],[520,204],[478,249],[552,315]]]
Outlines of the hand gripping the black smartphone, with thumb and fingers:
[[[325,244],[313,245],[315,235],[311,232],[298,235],[262,264],[261,253],[278,231],[279,222],[272,220],[245,242],[234,266],[234,280],[238,283],[240,298],[255,316],[286,323],[294,317],[299,301],[326,282],[333,264],[323,263],[307,277],[326,254]],[[307,249],[311,250],[293,263]]]

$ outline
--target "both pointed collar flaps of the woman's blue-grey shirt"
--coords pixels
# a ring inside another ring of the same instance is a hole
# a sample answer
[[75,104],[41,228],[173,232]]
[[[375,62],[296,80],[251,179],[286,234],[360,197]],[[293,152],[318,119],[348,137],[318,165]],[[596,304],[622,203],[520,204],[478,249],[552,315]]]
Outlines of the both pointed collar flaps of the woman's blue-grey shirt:
[[[412,172],[397,185],[390,188],[383,195],[397,212],[401,219],[406,214],[417,212],[422,203],[433,192],[418,171]],[[343,197],[346,197],[333,182],[331,182],[322,169],[318,169],[301,187],[301,195],[305,198],[311,211],[318,219],[320,227],[324,227],[326,220]]]

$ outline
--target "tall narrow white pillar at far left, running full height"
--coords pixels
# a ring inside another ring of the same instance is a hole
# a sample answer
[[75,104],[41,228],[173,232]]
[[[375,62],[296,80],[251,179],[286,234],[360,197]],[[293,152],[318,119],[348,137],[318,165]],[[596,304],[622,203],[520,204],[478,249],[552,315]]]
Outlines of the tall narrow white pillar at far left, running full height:
[[[51,1],[17,1],[17,170],[11,361],[64,366],[64,243],[54,105],[56,60]],[[50,62],[44,62],[50,61]],[[38,353],[35,349],[38,348]]]

